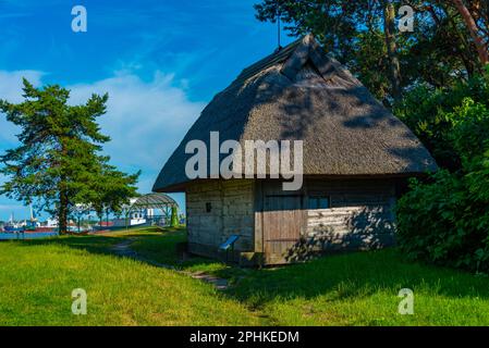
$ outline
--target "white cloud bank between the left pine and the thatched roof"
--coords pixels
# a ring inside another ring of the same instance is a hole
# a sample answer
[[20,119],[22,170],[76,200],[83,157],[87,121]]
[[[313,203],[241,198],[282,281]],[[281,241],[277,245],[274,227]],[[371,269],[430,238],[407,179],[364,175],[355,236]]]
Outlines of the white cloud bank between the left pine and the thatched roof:
[[[41,85],[40,72],[0,72],[0,98],[22,100],[22,76]],[[172,75],[156,72],[149,82],[130,72],[91,84],[66,86],[70,103],[83,103],[91,94],[109,94],[107,114],[99,119],[101,130],[111,137],[105,152],[111,163],[124,171],[143,170],[139,188],[150,190],[156,175],[188,127],[197,119],[204,103],[188,100],[183,88],[175,87]],[[180,86],[182,84],[179,84]],[[14,128],[0,121],[0,140],[14,139]],[[1,150],[0,144],[0,150]]]

